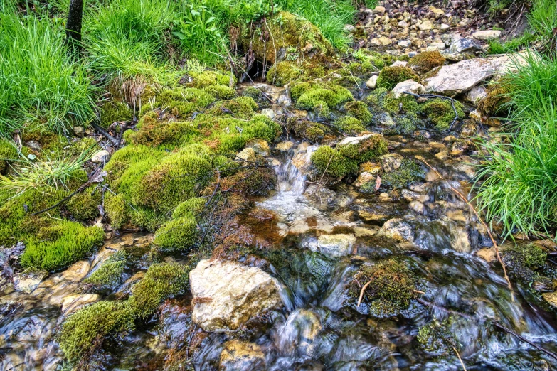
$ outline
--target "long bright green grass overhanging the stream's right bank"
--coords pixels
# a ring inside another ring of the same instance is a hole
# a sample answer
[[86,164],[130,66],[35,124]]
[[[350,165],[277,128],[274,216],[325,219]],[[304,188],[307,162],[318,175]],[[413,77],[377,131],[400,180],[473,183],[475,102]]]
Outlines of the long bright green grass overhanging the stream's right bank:
[[478,205],[506,236],[551,233],[557,223],[557,61],[530,54],[509,74],[511,143],[486,142]]

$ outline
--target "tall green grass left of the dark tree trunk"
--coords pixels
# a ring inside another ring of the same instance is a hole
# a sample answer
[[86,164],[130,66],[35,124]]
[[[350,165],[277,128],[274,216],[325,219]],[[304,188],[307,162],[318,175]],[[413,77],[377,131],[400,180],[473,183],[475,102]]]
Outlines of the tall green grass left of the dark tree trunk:
[[68,60],[63,30],[16,16],[7,2],[0,10],[0,135],[28,122],[58,132],[90,122],[94,89],[84,66]]

